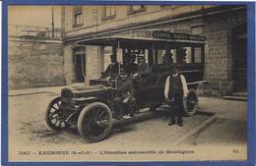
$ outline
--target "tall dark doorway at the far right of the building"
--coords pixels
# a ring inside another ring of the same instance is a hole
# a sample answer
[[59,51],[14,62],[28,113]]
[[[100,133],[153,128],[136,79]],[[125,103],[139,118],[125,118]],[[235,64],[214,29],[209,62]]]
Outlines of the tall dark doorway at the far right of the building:
[[233,91],[246,92],[247,89],[247,37],[246,25],[232,30]]

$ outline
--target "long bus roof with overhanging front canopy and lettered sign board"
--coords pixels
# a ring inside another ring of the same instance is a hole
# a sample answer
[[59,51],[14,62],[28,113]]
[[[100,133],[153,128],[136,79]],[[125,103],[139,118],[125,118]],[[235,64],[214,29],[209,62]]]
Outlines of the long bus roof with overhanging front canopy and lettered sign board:
[[150,47],[154,45],[201,45],[204,44],[204,35],[167,30],[130,30],[109,37],[89,38],[78,42],[78,45],[100,45],[116,47]]

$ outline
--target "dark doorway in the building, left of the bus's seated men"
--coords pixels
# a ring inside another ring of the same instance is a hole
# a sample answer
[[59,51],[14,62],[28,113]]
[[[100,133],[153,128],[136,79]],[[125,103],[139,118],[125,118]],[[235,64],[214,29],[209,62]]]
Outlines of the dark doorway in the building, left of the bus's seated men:
[[73,49],[75,83],[84,83],[86,77],[86,51],[85,47]]

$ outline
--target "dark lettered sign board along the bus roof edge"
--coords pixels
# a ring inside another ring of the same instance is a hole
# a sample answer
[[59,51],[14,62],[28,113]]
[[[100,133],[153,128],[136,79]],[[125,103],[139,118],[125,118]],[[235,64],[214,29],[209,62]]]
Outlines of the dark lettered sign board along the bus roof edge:
[[181,32],[170,32],[164,30],[155,30],[153,31],[154,38],[163,38],[163,39],[181,39],[181,40],[196,40],[196,41],[205,41],[206,37],[204,35],[188,34]]

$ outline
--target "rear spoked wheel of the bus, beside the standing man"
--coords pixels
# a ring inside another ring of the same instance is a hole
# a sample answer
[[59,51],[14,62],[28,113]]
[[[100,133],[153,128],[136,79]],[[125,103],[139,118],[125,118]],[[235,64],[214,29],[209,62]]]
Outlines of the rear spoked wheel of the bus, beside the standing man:
[[198,96],[196,90],[190,89],[188,96],[183,100],[184,112],[186,116],[193,116],[198,110]]

